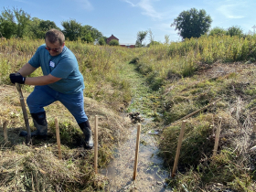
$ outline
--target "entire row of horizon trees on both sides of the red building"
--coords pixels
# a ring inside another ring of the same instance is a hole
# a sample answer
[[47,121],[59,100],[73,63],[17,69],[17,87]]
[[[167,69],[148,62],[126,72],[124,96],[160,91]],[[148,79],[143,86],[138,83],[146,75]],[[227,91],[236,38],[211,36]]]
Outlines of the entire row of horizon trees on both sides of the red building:
[[[171,27],[175,27],[178,31],[178,35],[182,39],[200,36],[239,36],[246,37],[243,31],[238,26],[232,26],[228,29],[221,27],[210,28],[212,19],[204,9],[197,10],[191,8],[190,10],[181,12],[171,24]],[[76,41],[80,39],[83,42],[93,43],[95,41],[100,45],[106,44],[107,37],[104,37],[102,33],[94,27],[89,25],[81,25],[75,19],[62,21],[61,30],[56,26],[54,21],[42,20],[37,17],[31,17],[22,9],[13,7],[12,9],[5,8],[0,15],[0,37],[29,37],[29,38],[44,38],[45,33],[50,28],[57,28],[63,32],[65,37],[70,41]],[[144,40],[149,37],[149,44],[145,44]],[[169,36],[165,35],[165,43],[169,43]],[[155,41],[153,32],[151,29],[145,31],[139,31],[137,33],[137,39],[135,46],[150,47],[158,45],[160,42]],[[119,42],[112,40],[110,42],[112,46],[118,46]]]

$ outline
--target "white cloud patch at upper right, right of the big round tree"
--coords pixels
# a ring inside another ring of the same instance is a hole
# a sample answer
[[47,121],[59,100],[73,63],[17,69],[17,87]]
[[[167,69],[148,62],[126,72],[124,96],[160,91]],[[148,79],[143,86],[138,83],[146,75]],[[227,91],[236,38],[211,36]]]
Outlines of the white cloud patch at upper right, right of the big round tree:
[[227,18],[243,18],[245,16],[240,14],[240,9],[243,4],[241,3],[232,3],[230,1],[227,1],[227,5],[220,5],[217,9],[220,14],[226,16]]

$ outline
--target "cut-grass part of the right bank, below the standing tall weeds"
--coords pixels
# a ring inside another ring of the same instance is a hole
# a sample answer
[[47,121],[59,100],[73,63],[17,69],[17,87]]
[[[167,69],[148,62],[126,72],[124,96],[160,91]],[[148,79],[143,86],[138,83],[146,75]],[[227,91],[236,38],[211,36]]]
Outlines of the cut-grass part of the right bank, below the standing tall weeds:
[[[181,122],[190,112],[221,98],[221,101],[187,120],[176,179],[176,191],[255,191],[256,68],[254,64],[215,63],[197,74],[165,86],[163,108],[165,128],[160,142],[166,164],[174,165]],[[218,155],[212,157],[219,117],[222,118]],[[177,122],[176,122],[177,121]],[[174,123],[175,122],[175,123]]]

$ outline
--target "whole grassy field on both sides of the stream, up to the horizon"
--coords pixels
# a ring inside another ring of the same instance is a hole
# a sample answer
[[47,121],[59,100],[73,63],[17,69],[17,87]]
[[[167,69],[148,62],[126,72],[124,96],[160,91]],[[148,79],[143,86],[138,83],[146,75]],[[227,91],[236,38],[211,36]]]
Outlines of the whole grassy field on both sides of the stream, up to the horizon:
[[[0,120],[7,122],[9,142],[0,129],[1,191],[91,191],[107,185],[95,176],[93,151],[80,147],[81,132],[59,102],[46,108],[48,140],[24,144],[25,128],[19,98],[8,74],[24,65],[44,42],[0,41]],[[134,65],[152,91],[143,113],[161,130],[159,155],[172,169],[182,117],[220,99],[187,119],[175,178],[167,178],[174,191],[255,191],[256,144],[252,131],[256,115],[256,37],[200,37],[150,48],[100,47],[67,42],[85,78],[85,111],[93,127],[100,117],[99,167],[111,161],[113,148],[127,136],[133,89],[123,78],[126,65]],[[36,70],[32,76],[41,75]],[[25,97],[33,86],[23,86]],[[143,94],[143,93],[142,93]],[[143,96],[143,95],[142,95]],[[150,104],[148,104],[150,103]],[[29,113],[29,112],[28,112]],[[54,118],[59,118],[63,159],[58,159]],[[222,119],[218,153],[212,156],[219,117]],[[32,120],[29,118],[32,127]]]

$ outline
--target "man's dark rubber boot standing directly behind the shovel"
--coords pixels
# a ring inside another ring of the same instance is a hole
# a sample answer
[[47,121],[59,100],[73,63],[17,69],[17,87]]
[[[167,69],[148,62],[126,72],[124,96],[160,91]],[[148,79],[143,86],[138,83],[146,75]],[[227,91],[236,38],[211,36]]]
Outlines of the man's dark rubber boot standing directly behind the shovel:
[[[47,137],[48,123],[47,123],[46,112],[31,113],[31,116],[33,118],[33,123],[34,123],[35,127],[37,128],[36,131],[31,133],[31,137],[32,136]],[[19,133],[19,135],[27,136],[27,132],[22,131],[21,133]]]

